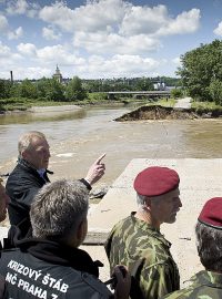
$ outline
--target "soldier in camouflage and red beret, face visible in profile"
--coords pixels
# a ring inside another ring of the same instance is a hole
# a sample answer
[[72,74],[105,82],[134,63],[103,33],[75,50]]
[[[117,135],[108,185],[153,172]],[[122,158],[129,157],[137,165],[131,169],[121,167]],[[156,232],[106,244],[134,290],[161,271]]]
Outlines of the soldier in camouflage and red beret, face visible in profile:
[[111,271],[125,265],[132,276],[131,298],[158,299],[179,290],[180,276],[171,244],[160,233],[162,223],[174,223],[181,205],[180,178],[167,167],[149,167],[134,181],[139,208],[119,221],[105,243]]

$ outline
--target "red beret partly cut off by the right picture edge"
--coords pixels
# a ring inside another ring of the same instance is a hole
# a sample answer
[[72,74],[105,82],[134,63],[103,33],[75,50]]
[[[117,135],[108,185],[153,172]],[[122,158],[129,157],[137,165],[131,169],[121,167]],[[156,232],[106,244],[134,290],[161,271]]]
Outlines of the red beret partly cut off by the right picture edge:
[[222,197],[209,199],[198,219],[202,224],[222,229]]

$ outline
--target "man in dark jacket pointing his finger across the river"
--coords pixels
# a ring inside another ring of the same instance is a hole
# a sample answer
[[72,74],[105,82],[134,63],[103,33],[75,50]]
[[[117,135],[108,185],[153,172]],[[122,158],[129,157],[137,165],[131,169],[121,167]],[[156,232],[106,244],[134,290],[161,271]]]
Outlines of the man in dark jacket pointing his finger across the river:
[[[30,227],[29,210],[34,195],[46,184],[49,183],[48,171],[50,158],[50,146],[44,134],[30,131],[19,138],[19,158],[13,172],[7,182],[7,193],[10,197],[9,219],[11,225],[21,221]],[[103,155],[104,156],[104,155]],[[104,174],[102,157],[98,158],[90,167],[87,177],[81,182],[90,190],[91,185],[100,179]]]

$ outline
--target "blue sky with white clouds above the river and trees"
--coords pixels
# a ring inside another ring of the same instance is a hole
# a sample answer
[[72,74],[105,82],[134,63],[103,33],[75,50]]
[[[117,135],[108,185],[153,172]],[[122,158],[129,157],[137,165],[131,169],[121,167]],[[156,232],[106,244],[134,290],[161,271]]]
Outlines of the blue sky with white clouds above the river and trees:
[[221,37],[221,0],[0,0],[0,79],[175,76]]

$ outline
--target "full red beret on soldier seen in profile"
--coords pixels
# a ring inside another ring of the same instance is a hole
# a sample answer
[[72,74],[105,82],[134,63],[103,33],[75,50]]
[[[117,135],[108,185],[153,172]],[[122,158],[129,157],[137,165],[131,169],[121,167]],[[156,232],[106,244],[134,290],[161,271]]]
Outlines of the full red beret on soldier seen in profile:
[[159,196],[178,188],[180,177],[178,173],[168,167],[148,167],[134,179],[134,189],[140,195]]

